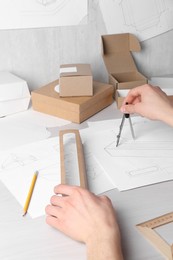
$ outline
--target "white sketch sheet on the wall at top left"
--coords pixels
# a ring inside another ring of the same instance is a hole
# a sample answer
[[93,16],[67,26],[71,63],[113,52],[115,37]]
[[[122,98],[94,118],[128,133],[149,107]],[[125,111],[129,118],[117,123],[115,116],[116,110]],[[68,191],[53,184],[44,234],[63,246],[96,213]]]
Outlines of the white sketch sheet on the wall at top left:
[[87,12],[87,0],[0,0],[0,29],[78,25]]

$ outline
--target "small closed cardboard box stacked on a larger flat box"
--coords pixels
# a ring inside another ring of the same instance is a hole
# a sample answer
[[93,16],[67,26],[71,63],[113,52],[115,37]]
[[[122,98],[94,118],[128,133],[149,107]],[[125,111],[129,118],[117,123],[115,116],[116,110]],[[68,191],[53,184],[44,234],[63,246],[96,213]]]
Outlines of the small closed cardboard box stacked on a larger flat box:
[[59,81],[61,97],[93,95],[93,77],[89,64],[61,65]]

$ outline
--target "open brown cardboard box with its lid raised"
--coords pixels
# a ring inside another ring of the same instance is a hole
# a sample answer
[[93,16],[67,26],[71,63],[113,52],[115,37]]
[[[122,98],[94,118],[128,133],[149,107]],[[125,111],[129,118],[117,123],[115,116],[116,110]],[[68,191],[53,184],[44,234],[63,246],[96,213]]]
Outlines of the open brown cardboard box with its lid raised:
[[141,50],[138,39],[130,34],[102,35],[102,56],[109,74],[109,83],[114,86],[114,97],[118,105],[118,89],[131,89],[146,84],[133,60],[131,52]]

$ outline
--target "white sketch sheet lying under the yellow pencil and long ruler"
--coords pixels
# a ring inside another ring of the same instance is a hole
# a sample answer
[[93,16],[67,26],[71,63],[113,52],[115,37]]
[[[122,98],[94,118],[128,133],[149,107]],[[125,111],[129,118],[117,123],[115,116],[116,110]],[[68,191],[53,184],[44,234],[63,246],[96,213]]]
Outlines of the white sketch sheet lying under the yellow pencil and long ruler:
[[[89,188],[99,194],[113,189],[113,184],[105,178],[105,172],[96,159],[85,149],[85,163]],[[45,214],[45,206],[53,195],[53,188],[60,183],[59,138],[48,138],[0,152],[0,179],[9,189],[21,206],[24,206],[26,196],[34,172],[39,172],[28,213],[31,217]],[[66,159],[72,161],[73,151],[66,154]],[[71,163],[66,164],[70,173]],[[70,176],[70,174],[68,174]],[[67,180],[68,182],[68,180]],[[22,208],[21,208],[22,214]]]

